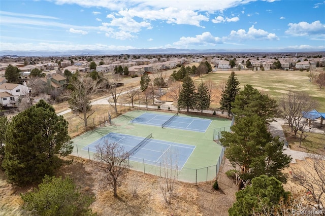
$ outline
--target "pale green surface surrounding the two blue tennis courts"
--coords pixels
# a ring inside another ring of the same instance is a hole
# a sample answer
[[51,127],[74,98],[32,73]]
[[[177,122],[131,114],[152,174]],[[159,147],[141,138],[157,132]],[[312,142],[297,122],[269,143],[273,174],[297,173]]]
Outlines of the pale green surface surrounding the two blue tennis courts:
[[[168,116],[172,117],[175,113],[150,111],[132,111],[125,113],[124,115],[120,115],[119,117],[112,119],[112,126],[95,128],[92,131],[88,131],[74,138],[73,141],[75,148],[72,154],[79,157],[92,159],[93,151],[88,151],[87,148],[83,150],[83,148],[88,146],[90,143],[99,140],[102,137],[105,137],[109,133],[123,134],[123,136],[130,135],[133,137],[141,137],[141,139],[145,138],[149,133],[152,133],[152,139],[159,140],[159,142],[161,141],[163,143],[161,143],[161,145],[159,143],[155,143],[154,145],[157,145],[157,147],[155,147],[155,149],[151,149],[151,152],[149,153],[148,151],[145,151],[146,154],[136,153],[135,157],[137,158],[137,161],[130,160],[133,169],[159,175],[160,168],[162,166],[160,163],[161,161],[157,161],[156,157],[154,158],[155,160],[152,160],[152,158],[150,158],[151,156],[146,157],[146,155],[150,155],[150,153],[153,154],[153,151],[156,150],[160,151],[165,149],[166,147],[164,145],[166,145],[166,143],[170,143],[169,145],[171,146],[172,143],[180,143],[182,145],[193,146],[195,148],[192,150],[192,153],[190,156],[188,156],[184,164],[179,164],[182,166],[182,170],[179,172],[179,181],[200,182],[205,181],[206,179],[213,180],[216,171],[218,170],[218,162],[220,160],[220,156],[222,156],[222,147],[213,141],[214,129],[229,128],[231,124],[231,121],[229,119],[191,116],[184,114],[178,115],[178,117],[186,119],[188,118],[209,121],[210,124],[206,128],[205,132],[199,132],[192,130],[175,129],[171,127],[161,128],[161,125],[152,126],[148,124],[139,124],[132,122],[132,120],[143,114],[158,116],[169,114]],[[132,143],[130,146],[135,147],[140,141],[141,140],[138,139],[137,141],[134,141],[135,143]],[[144,147],[146,146],[147,145]],[[140,151],[141,150],[139,150],[139,152]],[[177,151],[182,152],[183,149]],[[153,163],[150,164],[150,161],[154,161],[155,165],[153,165]]]

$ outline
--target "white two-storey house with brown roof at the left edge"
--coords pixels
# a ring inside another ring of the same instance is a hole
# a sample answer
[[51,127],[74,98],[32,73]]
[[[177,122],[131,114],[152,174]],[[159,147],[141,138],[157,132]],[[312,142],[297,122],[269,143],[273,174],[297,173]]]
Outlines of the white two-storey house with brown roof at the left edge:
[[0,85],[0,103],[3,106],[15,106],[21,96],[29,94],[29,88],[16,83]]

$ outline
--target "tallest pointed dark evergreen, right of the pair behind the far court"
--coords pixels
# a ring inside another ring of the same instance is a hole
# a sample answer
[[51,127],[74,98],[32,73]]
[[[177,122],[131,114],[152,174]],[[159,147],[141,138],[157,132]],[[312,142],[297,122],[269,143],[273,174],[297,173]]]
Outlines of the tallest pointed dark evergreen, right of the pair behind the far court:
[[235,72],[232,71],[220,99],[220,109],[228,111],[228,116],[230,116],[231,110],[233,109],[232,102],[235,101],[235,97],[239,93],[239,84],[239,81],[235,77]]

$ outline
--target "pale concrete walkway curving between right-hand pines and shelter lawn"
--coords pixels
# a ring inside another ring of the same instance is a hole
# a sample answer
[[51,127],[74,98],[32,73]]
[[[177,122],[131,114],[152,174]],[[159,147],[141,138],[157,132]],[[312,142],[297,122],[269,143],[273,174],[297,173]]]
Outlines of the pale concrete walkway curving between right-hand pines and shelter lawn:
[[[284,119],[276,118],[275,120],[275,122],[270,123],[270,132],[273,136],[279,136],[281,141],[286,141],[282,130],[282,125],[284,125],[285,123]],[[322,133],[322,131],[320,132]],[[310,157],[311,155],[314,155],[311,153],[290,150],[290,148],[286,147],[285,145],[283,146],[283,149],[283,153],[290,155],[293,158],[291,163],[296,163],[296,160],[305,160],[305,157]]]

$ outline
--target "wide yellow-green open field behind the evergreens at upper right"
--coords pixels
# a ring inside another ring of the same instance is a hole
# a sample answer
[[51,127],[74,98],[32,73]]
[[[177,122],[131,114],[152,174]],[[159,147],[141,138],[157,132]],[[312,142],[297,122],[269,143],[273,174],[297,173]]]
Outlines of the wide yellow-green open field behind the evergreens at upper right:
[[[222,81],[226,82],[230,74],[231,71],[217,71],[196,79],[196,82],[212,80],[216,84],[219,84]],[[306,71],[299,70],[236,71],[241,88],[246,84],[250,84],[254,88],[276,99],[280,98],[283,93],[289,90],[305,91],[319,102],[317,111],[325,112],[325,88],[323,87],[319,90],[316,84],[309,82],[308,74]]]

